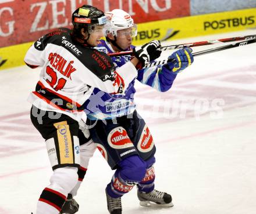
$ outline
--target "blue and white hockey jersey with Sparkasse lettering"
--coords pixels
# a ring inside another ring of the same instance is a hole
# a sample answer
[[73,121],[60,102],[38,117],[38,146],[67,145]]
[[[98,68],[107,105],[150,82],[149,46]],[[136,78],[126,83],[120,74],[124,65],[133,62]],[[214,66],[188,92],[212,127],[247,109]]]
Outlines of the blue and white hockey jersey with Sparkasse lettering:
[[[132,49],[134,46],[130,48]],[[105,53],[115,52],[111,45],[104,40],[101,40],[97,49]],[[115,64],[116,67],[123,66],[123,64],[130,61],[130,59],[130,55],[112,57],[113,64]],[[155,66],[138,70],[136,79],[160,92],[165,92],[172,87],[175,78],[176,74],[169,71],[167,67]],[[134,104],[134,94],[136,93],[134,82],[136,79],[130,82],[129,86],[122,94],[109,94],[95,88],[89,99],[84,103],[87,117],[91,120],[104,120],[133,113],[136,108]]]

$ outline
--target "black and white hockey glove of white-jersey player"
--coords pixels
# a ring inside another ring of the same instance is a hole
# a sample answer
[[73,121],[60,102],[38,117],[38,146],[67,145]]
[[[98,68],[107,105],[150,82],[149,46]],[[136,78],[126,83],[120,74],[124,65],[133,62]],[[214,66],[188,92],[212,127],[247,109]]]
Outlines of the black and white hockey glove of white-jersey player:
[[151,42],[145,43],[141,48],[133,48],[133,55],[145,66],[161,55],[161,51],[157,50],[160,46],[161,44],[158,40],[152,40]]

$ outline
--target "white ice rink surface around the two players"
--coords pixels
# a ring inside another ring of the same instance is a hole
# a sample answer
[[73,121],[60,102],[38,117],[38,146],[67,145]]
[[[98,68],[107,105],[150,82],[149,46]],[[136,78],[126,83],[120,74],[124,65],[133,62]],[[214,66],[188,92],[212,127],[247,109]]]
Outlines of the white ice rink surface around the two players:
[[[250,34],[255,31],[172,43]],[[137,84],[138,112],[157,146],[155,186],[172,194],[175,206],[143,208],[134,188],[122,198],[123,214],[256,213],[255,49],[253,44],[195,57],[165,93]],[[0,71],[1,214],[35,213],[52,173],[26,101],[38,75],[25,66]],[[105,186],[112,174],[96,151],[76,197],[78,213],[108,213]]]

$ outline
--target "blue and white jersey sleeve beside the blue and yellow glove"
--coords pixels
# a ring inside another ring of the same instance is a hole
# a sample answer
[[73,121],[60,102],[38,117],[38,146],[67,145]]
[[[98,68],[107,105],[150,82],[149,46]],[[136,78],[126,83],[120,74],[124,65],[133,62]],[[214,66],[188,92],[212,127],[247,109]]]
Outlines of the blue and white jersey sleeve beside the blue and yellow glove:
[[172,87],[177,74],[173,74],[164,66],[154,66],[138,70],[138,81],[160,92],[166,92]]

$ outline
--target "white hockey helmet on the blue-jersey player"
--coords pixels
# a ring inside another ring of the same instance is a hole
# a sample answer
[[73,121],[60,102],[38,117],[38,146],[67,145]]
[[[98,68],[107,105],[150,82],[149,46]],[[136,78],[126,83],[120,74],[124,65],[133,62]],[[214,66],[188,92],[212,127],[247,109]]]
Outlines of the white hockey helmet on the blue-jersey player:
[[130,35],[131,37],[136,37],[137,35],[137,26],[134,24],[133,19],[129,13],[126,13],[124,10],[115,9],[111,12],[105,13],[108,18],[108,23],[104,26],[104,34],[106,35],[112,33],[113,36],[118,35],[118,30],[123,30],[131,28]]

